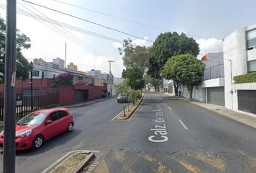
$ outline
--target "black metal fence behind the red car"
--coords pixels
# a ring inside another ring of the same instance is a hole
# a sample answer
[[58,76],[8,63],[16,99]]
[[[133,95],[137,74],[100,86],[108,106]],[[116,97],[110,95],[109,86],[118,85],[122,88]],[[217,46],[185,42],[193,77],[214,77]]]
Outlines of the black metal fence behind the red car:
[[[24,117],[34,110],[41,110],[59,104],[59,94],[16,97],[16,117]],[[0,98],[0,120],[4,119],[4,97]]]

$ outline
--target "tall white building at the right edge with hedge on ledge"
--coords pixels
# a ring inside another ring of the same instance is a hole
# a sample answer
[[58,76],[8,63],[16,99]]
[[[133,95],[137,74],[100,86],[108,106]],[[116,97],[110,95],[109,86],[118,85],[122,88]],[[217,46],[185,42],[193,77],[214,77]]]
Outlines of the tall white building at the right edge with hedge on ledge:
[[223,40],[225,106],[256,114],[256,83],[234,84],[234,76],[256,71],[256,24],[234,30]]

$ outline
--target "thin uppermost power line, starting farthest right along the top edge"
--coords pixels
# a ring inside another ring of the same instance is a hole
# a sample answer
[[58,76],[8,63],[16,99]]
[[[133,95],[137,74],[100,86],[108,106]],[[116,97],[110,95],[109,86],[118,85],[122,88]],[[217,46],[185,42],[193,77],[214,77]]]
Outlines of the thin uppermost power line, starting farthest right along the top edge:
[[145,23],[142,23],[142,22],[136,22],[134,20],[131,20],[131,19],[125,19],[125,18],[122,18],[122,17],[116,17],[114,15],[111,15],[111,14],[106,14],[106,13],[103,13],[103,12],[98,12],[96,10],[93,10],[93,9],[88,9],[88,8],[85,8],[85,7],[82,7],[82,6],[77,6],[77,5],[74,5],[74,4],[69,4],[67,2],[64,2],[64,1],[58,1],[58,0],[52,0],[52,1],[56,1],[56,2],[59,2],[61,4],[66,4],[66,5],[69,5],[69,6],[74,6],[74,7],[77,7],[79,9],[84,9],[86,11],[89,11],[89,12],[94,12],[94,13],[97,13],[97,14],[102,14],[104,16],[108,16],[108,17],[113,17],[113,18],[116,18],[116,19],[120,19],[120,20],[124,20],[126,22],[131,22],[131,23],[135,23],[137,25],[142,25],[142,26],[145,26],[145,27],[153,27],[155,29],[161,29],[159,27],[155,27],[153,25],[148,25],[148,24],[145,24]]

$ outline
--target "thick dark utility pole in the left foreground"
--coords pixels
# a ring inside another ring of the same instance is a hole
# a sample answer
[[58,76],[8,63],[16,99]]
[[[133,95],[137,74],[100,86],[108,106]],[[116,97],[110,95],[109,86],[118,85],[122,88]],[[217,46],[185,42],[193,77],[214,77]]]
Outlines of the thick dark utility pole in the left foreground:
[[15,172],[16,117],[16,0],[7,0],[4,65],[4,156],[3,172]]

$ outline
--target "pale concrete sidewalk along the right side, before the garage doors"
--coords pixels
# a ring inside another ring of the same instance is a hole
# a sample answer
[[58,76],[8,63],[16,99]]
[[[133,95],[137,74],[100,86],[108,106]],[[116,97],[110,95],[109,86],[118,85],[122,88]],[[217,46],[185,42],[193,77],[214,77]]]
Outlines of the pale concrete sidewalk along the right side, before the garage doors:
[[217,112],[220,115],[223,115],[225,117],[229,117],[232,120],[236,120],[240,123],[244,123],[246,125],[251,126],[252,128],[256,128],[256,117],[245,115],[240,112],[235,112],[233,110],[229,110],[226,107],[213,105],[205,102],[197,102],[193,101],[192,104],[195,104],[200,107],[204,107],[205,109],[211,110],[213,112]]

